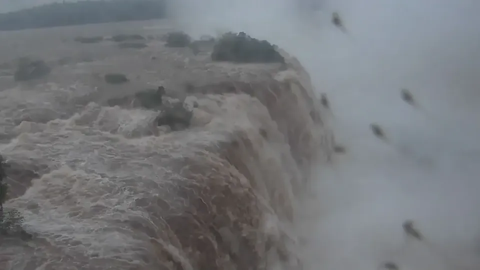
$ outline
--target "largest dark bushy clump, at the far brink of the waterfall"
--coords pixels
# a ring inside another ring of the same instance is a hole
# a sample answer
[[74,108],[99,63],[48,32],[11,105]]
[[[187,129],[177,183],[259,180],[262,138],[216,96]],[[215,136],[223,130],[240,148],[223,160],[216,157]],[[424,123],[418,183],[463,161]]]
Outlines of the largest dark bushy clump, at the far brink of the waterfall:
[[284,63],[283,56],[266,40],[258,40],[244,32],[228,32],[215,43],[211,53],[213,61],[238,63]]

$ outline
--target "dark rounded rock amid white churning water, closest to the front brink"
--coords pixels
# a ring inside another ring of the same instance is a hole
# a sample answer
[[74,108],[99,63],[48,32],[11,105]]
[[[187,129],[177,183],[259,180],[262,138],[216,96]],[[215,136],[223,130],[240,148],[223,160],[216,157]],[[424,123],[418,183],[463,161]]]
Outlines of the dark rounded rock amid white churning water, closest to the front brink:
[[190,125],[193,112],[186,109],[182,102],[174,102],[162,105],[156,121],[160,125],[168,125],[171,130],[187,128]]

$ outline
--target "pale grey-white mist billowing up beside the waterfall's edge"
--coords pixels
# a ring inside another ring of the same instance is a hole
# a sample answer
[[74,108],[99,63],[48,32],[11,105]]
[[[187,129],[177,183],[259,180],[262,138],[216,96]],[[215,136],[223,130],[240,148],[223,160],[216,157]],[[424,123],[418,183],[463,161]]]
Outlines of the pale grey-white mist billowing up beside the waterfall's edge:
[[[200,3],[201,2],[201,3]],[[179,0],[192,35],[245,31],[309,71],[346,147],[318,164],[298,231],[307,269],[480,269],[480,2]],[[346,33],[330,23],[338,11]],[[400,98],[408,88],[416,102]],[[378,123],[387,141],[371,133]],[[406,237],[412,219],[423,241]]]

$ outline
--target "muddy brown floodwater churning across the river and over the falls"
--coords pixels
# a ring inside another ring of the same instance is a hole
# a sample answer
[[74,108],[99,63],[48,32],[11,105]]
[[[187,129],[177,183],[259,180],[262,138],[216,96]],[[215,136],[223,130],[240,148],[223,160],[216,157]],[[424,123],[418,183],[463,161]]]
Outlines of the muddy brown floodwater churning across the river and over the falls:
[[[311,164],[333,143],[309,75],[284,52],[286,70],[167,48],[167,26],[144,28],[159,23],[0,33],[5,206],[33,235],[1,238],[1,269],[301,267],[298,201]],[[146,48],[73,41],[133,32],[151,35]],[[14,82],[12,63],[25,55],[45,59],[51,74]],[[106,84],[110,72],[130,81]],[[189,128],[157,127],[153,110],[106,105],[158,85],[192,110]]]

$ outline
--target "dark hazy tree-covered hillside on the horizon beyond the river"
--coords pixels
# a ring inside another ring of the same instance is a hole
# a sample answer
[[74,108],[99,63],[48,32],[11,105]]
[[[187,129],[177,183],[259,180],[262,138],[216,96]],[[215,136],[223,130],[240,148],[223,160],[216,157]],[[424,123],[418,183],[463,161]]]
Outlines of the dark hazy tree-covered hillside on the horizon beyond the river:
[[163,0],[89,0],[51,3],[0,13],[0,30],[147,20],[164,16]]

